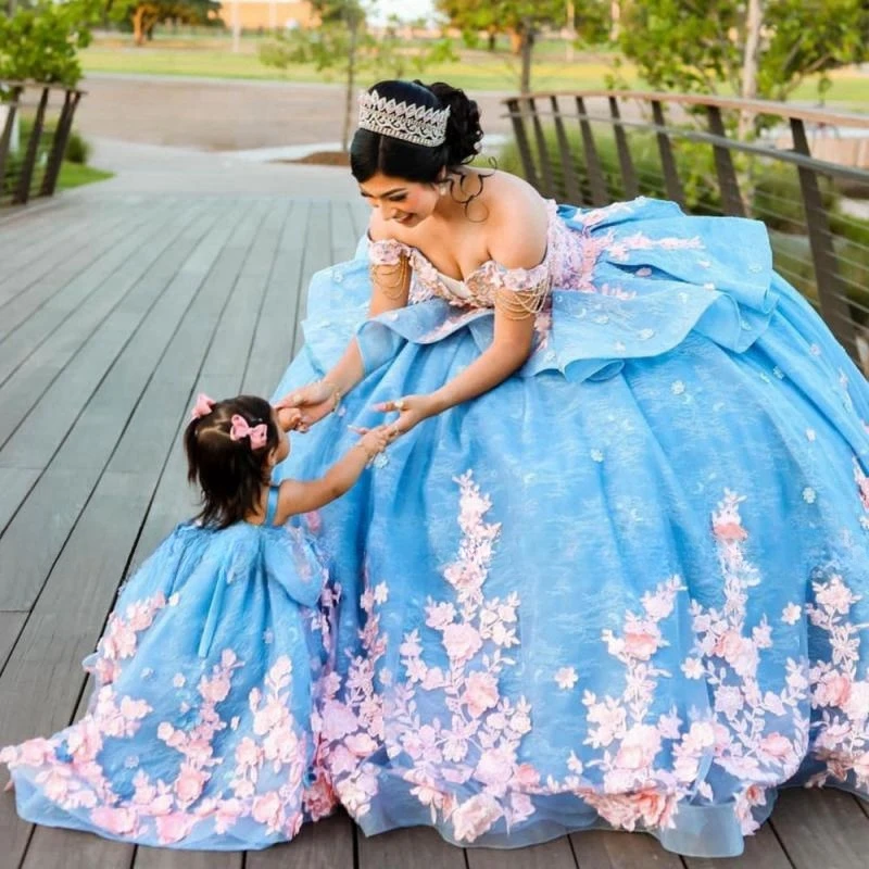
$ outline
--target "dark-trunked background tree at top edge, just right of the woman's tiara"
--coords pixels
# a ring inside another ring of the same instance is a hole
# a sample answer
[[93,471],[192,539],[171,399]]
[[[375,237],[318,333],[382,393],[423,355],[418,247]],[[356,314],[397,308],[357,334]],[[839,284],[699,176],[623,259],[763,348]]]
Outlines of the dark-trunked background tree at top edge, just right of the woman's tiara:
[[522,93],[531,90],[531,61],[543,30],[570,26],[585,39],[597,41],[606,37],[608,26],[602,0],[437,0],[437,8],[453,27],[462,30],[468,45],[476,45],[481,33],[507,34],[514,52],[521,59]]

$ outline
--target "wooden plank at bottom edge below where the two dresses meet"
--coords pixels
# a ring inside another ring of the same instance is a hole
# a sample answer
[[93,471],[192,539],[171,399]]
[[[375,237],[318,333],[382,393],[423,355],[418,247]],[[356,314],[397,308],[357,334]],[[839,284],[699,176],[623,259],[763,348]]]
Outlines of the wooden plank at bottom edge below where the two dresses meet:
[[[353,821],[339,811],[305,824],[286,845],[249,851],[244,869],[353,869]],[[383,864],[381,869],[388,866]]]

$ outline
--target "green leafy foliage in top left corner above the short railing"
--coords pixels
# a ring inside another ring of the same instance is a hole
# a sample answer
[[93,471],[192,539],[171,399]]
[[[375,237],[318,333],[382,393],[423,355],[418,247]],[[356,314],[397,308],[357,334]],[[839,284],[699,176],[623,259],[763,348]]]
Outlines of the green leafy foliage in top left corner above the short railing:
[[90,0],[40,0],[0,15],[0,79],[77,85],[78,50],[90,42],[96,9]]

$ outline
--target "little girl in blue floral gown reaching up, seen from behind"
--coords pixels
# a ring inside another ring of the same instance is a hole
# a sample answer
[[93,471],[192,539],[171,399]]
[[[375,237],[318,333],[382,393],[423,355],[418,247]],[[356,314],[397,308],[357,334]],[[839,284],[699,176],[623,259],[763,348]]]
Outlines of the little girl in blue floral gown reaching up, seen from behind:
[[331,810],[314,709],[338,590],[285,524],[347,492],[390,437],[368,431],[320,479],[272,487],[298,424],[263,399],[199,396],[185,448],[202,512],[122,589],[85,662],[87,715],[0,752],[24,819],[231,851]]

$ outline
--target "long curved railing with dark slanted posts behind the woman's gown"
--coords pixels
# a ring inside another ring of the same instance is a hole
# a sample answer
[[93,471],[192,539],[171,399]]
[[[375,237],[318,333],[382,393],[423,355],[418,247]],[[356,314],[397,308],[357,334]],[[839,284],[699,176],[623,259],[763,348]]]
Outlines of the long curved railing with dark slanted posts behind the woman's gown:
[[[657,196],[765,221],[778,270],[869,368],[869,199],[847,198],[869,197],[869,147],[856,149],[867,166],[813,155],[819,142],[869,143],[869,115],[635,91],[531,93],[505,104],[521,171],[545,196],[579,205]],[[736,138],[758,119],[763,133]]]

